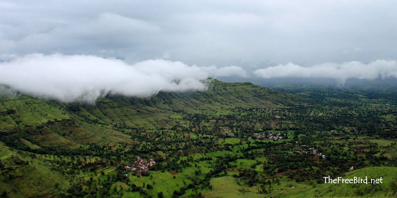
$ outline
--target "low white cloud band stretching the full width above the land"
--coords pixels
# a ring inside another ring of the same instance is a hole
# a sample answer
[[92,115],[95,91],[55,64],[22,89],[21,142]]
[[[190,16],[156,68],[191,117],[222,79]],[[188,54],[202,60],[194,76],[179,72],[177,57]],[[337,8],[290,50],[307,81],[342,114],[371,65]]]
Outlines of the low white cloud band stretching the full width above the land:
[[[279,64],[254,71],[269,78],[332,78],[344,84],[347,79],[397,78],[396,60],[324,63],[303,67]],[[205,91],[208,77],[249,77],[241,67],[189,66],[179,61],[145,60],[128,64],[118,59],[94,55],[44,55],[39,53],[0,62],[0,95],[17,90],[24,94],[63,102],[94,102],[107,94],[149,97],[160,91]]]

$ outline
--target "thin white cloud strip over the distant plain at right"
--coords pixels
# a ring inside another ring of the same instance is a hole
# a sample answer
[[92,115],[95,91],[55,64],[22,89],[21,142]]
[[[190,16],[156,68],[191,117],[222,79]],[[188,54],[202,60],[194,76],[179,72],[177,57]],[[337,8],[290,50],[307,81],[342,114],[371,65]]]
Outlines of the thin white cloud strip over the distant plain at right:
[[258,77],[269,78],[332,78],[344,84],[347,79],[385,79],[397,78],[396,60],[376,60],[365,64],[359,61],[324,63],[312,67],[302,67],[294,63],[279,64],[273,67],[258,69],[254,72]]

